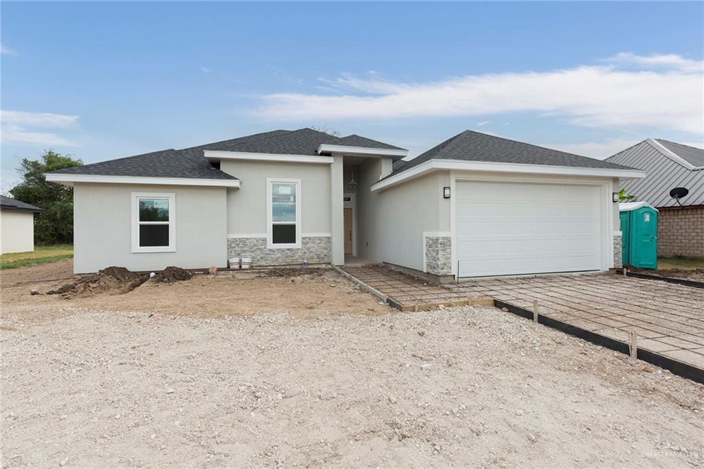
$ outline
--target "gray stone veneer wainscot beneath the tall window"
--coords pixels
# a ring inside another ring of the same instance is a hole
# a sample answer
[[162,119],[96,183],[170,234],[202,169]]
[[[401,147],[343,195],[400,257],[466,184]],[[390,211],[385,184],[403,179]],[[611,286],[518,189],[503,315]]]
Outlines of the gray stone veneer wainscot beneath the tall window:
[[265,237],[228,238],[227,257],[249,257],[252,265],[330,263],[330,237],[303,237],[301,249],[268,249]]

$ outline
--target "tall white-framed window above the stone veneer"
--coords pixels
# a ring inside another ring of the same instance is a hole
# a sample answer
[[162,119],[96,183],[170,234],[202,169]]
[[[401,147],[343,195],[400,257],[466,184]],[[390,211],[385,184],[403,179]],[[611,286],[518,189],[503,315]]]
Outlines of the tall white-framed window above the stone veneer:
[[268,177],[267,246],[301,248],[301,180]]

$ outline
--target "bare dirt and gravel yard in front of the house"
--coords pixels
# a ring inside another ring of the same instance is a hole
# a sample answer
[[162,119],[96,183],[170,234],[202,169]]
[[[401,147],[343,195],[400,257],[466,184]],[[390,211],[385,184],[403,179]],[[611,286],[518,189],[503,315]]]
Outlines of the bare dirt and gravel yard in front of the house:
[[332,272],[29,294],[60,284],[2,289],[2,467],[704,463],[703,386],[496,308]]

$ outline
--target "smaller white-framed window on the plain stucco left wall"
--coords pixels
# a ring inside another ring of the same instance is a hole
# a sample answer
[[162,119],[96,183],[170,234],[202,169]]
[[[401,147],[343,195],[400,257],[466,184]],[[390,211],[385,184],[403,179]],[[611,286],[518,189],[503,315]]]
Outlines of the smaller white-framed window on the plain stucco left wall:
[[176,251],[176,194],[132,192],[132,252]]

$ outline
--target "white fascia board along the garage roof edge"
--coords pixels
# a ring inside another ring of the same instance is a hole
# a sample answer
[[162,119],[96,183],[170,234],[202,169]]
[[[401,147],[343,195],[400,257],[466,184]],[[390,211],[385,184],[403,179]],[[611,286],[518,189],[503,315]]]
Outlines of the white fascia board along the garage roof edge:
[[572,168],[571,166],[529,165],[522,163],[496,163],[493,161],[430,160],[409,168],[395,176],[388,177],[372,185],[372,192],[392,187],[406,180],[415,179],[437,170],[465,170],[496,173],[523,173],[565,176],[594,177],[646,177],[641,170],[618,170],[609,168]]

